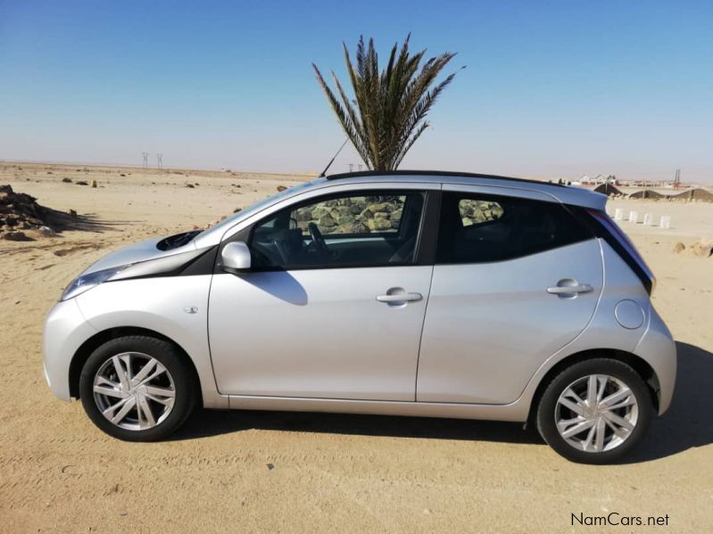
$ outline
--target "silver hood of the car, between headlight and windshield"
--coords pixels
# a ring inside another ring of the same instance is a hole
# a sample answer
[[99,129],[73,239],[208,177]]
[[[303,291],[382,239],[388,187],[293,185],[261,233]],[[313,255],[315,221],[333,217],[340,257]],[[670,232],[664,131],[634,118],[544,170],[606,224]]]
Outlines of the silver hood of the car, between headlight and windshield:
[[150,259],[166,258],[187,251],[195,251],[193,238],[198,232],[185,232],[170,237],[156,237],[137,242],[118,251],[113,251],[87,267],[82,275],[95,273],[112,267],[120,267],[148,261]]

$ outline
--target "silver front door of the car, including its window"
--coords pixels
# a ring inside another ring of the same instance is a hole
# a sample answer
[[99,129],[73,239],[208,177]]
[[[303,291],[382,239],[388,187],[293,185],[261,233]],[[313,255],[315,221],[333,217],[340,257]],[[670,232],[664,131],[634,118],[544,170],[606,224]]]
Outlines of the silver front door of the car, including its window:
[[433,269],[419,265],[426,201],[423,187],[352,190],[255,223],[251,270],[211,284],[220,392],[414,401]]

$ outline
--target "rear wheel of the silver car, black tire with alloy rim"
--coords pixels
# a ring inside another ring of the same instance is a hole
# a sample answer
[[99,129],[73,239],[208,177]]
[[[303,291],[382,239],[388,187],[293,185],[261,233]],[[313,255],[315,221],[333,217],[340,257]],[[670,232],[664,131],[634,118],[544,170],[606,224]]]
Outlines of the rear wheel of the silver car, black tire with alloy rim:
[[[591,391],[596,392],[593,403]],[[582,464],[609,464],[639,445],[652,415],[651,392],[640,374],[618,360],[594,358],[552,379],[536,418],[543,440],[561,456]]]

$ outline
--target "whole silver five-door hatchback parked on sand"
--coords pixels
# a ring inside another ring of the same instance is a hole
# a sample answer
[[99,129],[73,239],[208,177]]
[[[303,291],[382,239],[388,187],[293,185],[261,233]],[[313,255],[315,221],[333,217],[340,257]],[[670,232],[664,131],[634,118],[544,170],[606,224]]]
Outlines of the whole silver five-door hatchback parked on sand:
[[676,348],[606,200],[321,177],[88,267],[46,318],[46,379],[121,440],[200,405],[529,422],[570,460],[615,461],[667,410]]

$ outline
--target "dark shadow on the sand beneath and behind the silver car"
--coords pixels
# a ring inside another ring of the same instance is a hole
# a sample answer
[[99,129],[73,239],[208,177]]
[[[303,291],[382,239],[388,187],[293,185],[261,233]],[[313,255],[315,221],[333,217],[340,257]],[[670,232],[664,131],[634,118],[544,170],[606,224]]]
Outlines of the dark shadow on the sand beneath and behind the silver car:
[[[641,447],[623,460],[626,464],[648,462],[713,443],[713,394],[709,391],[713,354],[679,341],[676,349],[678,374],[673,403],[665,415],[654,419]],[[523,431],[522,423],[258,410],[196,410],[172,439],[194,440],[251,429],[543,444],[533,425]]]

